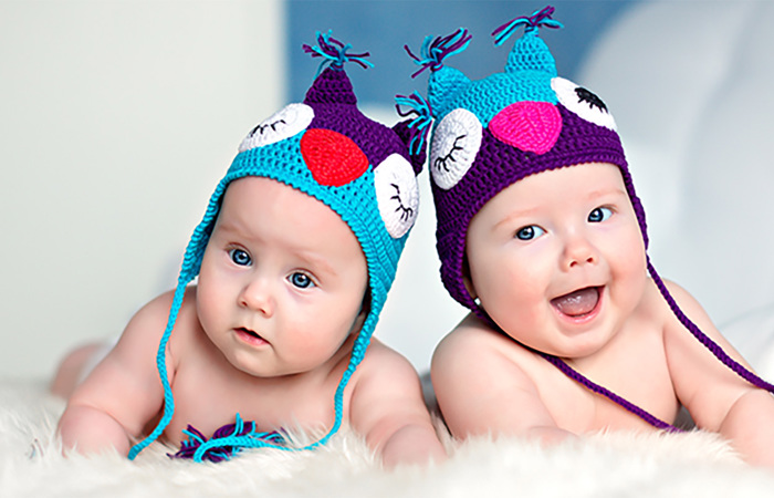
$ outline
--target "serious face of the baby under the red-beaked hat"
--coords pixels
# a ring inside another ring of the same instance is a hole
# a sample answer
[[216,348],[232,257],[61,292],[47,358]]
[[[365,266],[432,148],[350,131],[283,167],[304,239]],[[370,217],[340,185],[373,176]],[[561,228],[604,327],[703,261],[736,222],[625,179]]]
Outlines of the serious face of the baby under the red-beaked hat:
[[257,376],[308,372],[348,336],[367,282],[365,256],[338,215],[284,184],[248,177],[226,191],[197,309],[237,369]]

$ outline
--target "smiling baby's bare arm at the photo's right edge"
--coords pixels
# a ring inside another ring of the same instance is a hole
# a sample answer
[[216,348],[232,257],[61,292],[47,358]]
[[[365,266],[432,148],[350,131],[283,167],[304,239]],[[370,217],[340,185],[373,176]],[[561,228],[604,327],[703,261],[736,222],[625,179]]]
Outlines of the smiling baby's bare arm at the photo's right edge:
[[[752,370],[695,299],[677,284],[668,282],[668,287],[687,317]],[[665,347],[678,397],[697,425],[726,437],[749,463],[774,467],[774,397],[724,366],[677,322],[665,330]]]

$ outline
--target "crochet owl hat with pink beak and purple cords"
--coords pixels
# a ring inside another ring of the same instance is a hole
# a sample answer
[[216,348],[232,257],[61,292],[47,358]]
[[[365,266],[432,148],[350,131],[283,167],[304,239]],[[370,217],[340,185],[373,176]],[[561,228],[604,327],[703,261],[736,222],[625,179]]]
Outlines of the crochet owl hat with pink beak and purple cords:
[[[624,184],[648,246],[645,210],[637,197],[613,116],[604,102],[588,90],[558,77],[538,28],[562,28],[546,7],[530,17],[516,18],[498,28],[498,45],[520,27],[524,34],[511,50],[505,70],[471,81],[443,61],[470,43],[467,30],[425,39],[417,56],[430,69],[428,101],[435,118],[429,169],[436,203],[436,241],[441,279],[452,298],[495,329],[498,325],[468,292],[463,281],[466,237],[473,216],[502,189],[530,175],[584,163],[610,163],[620,169]],[[680,310],[648,259],[648,271],[682,324],[731,370],[752,384],[774,386],[744,369],[712,342]],[[569,377],[607,396],[648,423],[673,427],[603,386],[594,384],[562,360],[541,353]]]

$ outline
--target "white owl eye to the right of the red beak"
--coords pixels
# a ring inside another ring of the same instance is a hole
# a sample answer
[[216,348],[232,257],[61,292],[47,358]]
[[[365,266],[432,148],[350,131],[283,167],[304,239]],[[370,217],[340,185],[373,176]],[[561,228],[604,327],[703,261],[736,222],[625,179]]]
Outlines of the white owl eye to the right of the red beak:
[[374,168],[374,185],[385,228],[399,239],[417,219],[419,188],[414,168],[402,156],[391,154]]

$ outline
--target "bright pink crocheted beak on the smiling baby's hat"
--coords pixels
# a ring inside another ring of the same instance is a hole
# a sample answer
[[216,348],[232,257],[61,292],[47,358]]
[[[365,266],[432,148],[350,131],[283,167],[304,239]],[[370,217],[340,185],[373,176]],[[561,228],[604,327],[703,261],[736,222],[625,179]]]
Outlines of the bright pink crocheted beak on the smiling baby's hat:
[[524,152],[545,154],[562,131],[562,116],[548,102],[516,102],[500,111],[489,122],[499,141]]

